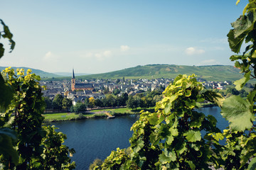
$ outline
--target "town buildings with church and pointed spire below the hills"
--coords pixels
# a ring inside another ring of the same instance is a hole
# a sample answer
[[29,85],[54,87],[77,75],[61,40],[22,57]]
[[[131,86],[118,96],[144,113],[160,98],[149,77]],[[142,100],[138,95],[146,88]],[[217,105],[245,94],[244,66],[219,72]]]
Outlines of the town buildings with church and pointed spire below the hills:
[[[127,93],[135,95],[144,91],[154,91],[154,89],[164,89],[174,79],[92,79],[79,80],[75,79],[73,70],[72,78],[63,81],[41,81],[42,86],[46,86],[43,95],[51,99],[57,94],[61,94],[70,98],[75,104],[78,101],[83,101],[85,98],[93,97],[105,98],[106,92],[111,93],[115,89],[119,89],[120,94]],[[203,79],[198,79],[203,81]],[[226,85],[231,84],[231,81],[203,81],[203,86],[207,89],[225,89]]]

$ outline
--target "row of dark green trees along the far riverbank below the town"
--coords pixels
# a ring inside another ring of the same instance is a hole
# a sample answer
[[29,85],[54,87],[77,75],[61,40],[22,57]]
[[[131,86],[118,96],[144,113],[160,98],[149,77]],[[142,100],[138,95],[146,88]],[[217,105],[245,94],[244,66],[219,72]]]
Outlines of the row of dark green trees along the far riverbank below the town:
[[[119,94],[119,93],[118,93]],[[87,108],[108,108],[127,106],[128,108],[152,108],[157,101],[161,100],[162,91],[156,89],[150,92],[144,92],[142,94],[135,94],[134,96],[128,96],[127,93],[120,95],[106,94],[105,98],[85,98],[83,101],[78,101],[73,105],[69,98],[63,97],[57,94],[53,100],[48,97],[44,98],[46,111],[71,111],[75,113],[81,113],[87,111]]]

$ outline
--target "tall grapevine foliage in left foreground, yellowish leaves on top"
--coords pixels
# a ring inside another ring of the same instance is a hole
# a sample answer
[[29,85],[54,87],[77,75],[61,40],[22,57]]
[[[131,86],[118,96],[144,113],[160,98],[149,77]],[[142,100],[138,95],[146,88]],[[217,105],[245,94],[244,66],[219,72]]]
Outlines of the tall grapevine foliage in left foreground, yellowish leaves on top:
[[[40,77],[28,69],[6,68],[3,75],[6,84],[15,91],[3,118],[8,126],[16,132],[17,139],[11,144],[18,152],[17,162],[13,157],[2,154],[1,169],[75,169],[75,162],[70,163],[68,149],[63,142],[65,135],[55,132],[53,127],[44,127],[43,87],[39,85]],[[7,133],[6,133],[7,134]],[[15,136],[14,136],[15,137]]]

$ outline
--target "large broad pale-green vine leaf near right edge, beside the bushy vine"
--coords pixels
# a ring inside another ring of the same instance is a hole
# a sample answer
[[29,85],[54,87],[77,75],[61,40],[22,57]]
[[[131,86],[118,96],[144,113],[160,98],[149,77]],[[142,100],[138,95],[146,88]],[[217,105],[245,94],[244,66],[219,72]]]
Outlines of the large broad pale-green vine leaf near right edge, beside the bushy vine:
[[254,114],[250,111],[250,102],[240,96],[226,98],[221,108],[221,115],[230,122],[233,130],[245,130],[252,127],[255,120]]

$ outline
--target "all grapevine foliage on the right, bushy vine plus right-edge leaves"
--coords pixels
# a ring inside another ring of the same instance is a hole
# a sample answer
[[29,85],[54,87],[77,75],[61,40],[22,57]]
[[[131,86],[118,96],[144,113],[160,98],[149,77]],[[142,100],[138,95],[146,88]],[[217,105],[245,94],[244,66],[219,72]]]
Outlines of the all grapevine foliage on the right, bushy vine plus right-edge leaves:
[[[256,0],[249,0],[242,16],[231,26],[230,49],[240,53],[246,45],[242,55],[230,57],[244,76],[234,83],[241,90],[250,79],[256,79]],[[256,85],[247,98],[224,99],[202,89],[194,75],[176,77],[164,91],[163,100],[156,103],[155,113],[142,113],[132,126],[132,152],[119,166],[132,169],[129,164],[135,163],[138,167],[134,169],[255,169]],[[221,115],[229,121],[223,133],[216,128],[213,116],[195,110],[196,103],[202,101],[220,106]],[[220,145],[220,140],[225,140],[225,145]],[[111,159],[119,156],[115,152]]]

